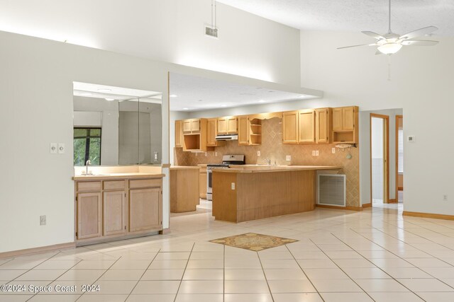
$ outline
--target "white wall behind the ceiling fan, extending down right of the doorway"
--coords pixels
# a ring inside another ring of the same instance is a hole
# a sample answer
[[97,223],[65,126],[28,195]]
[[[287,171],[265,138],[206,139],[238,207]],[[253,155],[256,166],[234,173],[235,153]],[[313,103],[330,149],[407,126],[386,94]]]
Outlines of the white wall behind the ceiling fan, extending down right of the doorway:
[[[416,136],[414,143],[404,143],[404,210],[454,215],[454,188],[450,184],[454,143],[448,139],[454,128],[454,38],[433,38],[441,41],[439,45],[404,47],[393,55],[392,81],[388,81],[388,57],[376,56],[373,47],[336,50],[373,42],[370,37],[301,32],[301,84],[323,90],[321,101],[327,106],[403,108],[404,135]],[[448,194],[450,202],[442,201],[443,194]]]

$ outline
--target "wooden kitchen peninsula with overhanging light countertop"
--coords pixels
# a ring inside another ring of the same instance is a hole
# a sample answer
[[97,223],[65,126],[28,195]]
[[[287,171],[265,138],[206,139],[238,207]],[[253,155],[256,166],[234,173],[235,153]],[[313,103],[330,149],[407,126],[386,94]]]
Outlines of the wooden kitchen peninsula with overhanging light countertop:
[[213,216],[242,222],[312,211],[317,170],[340,166],[245,165],[213,171]]

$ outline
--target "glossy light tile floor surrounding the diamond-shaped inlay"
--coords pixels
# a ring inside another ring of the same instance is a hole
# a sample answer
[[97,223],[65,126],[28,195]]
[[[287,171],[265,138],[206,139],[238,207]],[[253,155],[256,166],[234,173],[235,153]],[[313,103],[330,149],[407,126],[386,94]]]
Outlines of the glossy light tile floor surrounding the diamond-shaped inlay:
[[[16,292],[0,301],[454,301],[454,221],[402,217],[402,204],[170,222],[164,236],[1,259],[0,285]],[[260,252],[208,242],[248,232],[299,241]]]

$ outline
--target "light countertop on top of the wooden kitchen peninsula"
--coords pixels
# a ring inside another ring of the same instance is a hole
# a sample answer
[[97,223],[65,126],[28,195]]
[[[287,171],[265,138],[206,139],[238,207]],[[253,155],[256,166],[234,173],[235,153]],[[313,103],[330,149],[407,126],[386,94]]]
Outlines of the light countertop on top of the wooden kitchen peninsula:
[[338,170],[343,167],[338,165],[234,165],[230,169],[216,169],[214,172],[222,173],[267,173],[304,170]]

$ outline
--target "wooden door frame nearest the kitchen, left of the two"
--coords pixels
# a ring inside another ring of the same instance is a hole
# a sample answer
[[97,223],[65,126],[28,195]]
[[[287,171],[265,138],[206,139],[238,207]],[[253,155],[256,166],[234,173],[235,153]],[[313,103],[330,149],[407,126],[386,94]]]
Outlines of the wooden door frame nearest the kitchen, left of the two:
[[369,158],[370,158],[370,205],[373,206],[372,199],[372,118],[383,120],[383,203],[389,204],[389,115],[379,115],[370,113],[369,118]]

